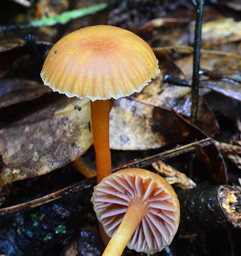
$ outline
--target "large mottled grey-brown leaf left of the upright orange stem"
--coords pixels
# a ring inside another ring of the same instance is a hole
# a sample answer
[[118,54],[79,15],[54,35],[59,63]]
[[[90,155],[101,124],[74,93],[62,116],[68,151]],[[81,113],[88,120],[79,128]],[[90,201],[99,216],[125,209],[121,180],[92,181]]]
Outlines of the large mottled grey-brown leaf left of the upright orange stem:
[[59,168],[92,143],[89,100],[58,95],[52,103],[0,130],[5,163],[0,186]]

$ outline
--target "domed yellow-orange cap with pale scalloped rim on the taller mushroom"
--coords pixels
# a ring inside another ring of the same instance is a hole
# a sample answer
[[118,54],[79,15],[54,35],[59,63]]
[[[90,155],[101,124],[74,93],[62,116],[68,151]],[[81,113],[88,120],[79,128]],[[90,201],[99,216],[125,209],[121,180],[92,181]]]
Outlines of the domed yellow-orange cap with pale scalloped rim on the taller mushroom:
[[40,75],[45,85],[68,97],[105,100],[141,91],[159,72],[144,40],[122,28],[98,25],[61,38]]

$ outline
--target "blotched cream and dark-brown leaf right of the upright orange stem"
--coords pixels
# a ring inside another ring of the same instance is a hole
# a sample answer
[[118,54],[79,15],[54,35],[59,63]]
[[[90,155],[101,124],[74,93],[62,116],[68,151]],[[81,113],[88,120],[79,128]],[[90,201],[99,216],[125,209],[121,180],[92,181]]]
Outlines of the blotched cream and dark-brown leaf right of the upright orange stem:
[[[165,75],[185,78],[174,63],[160,63],[161,73],[131,98],[114,102],[110,112],[110,146],[112,149],[144,150],[188,139],[189,131],[172,112],[172,107],[190,118],[191,89],[169,86]],[[198,126],[208,136],[218,132],[214,114],[200,97]]]

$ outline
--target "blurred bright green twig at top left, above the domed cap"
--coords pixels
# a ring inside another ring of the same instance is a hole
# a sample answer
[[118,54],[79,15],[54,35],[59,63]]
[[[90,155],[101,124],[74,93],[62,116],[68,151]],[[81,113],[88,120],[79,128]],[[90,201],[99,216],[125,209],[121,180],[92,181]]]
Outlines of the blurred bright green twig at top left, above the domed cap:
[[42,18],[39,20],[33,20],[26,24],[0,26],[0,33],[13,31],[13,30],[22,30],[27,28],[47,27],[47,26],[53,26],[56,24],[66,24],[72,19],[77,19],[77,18],[84,17],[86,15],[95,14],[96,12],[102,11],[107,7],[108,7],[108,3],[99,3],[97,5],[92,5],[86,8],[80,8],[72,11],[65,11],[59,15]]

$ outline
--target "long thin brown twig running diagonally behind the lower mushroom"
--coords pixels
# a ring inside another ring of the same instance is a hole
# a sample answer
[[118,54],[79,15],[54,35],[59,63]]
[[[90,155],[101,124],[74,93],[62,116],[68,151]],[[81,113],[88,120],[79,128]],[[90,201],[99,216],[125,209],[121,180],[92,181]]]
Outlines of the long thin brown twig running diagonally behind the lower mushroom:
[[[150,165],[152,163],[155,163],[157,161],[161,161],[167,158],[171,158],[174,157],[176,155],[180,155],[186,152],[190,152],[194,149],[199,149],[205,146],[209,146],[210,144],[212,144],[212,139],[211,138],[206,138],[206,139],[202,139],[196,142],[192,142],[190,144],[186,144],[184,146],[180,146],[178,148],[175,149],[171,149],[171,150],[167,150],[165,152],[162,152],[160,154],[157,155],[152,155],[140,160],[136,160],[136,161],[132,161],[130,163],[121,165],[117,168],[112,169],[112,172],[114,171],[118,171],[121,170],[123,168],[141,168],[144,167],[146,165]],[[69,187],[65,187],[61,190],[58,190],[54,193],[48,194],[46,196],[28,201],[26,203],[21,203],[21,204],[17,204],[14,206],[10,206],[10,207],[5,207],[5,208],[1,208],[0,209],[0,215],[8,215],[8,214],[12,214],[12,213],[17,213],[21,210],[25,210],[25,209],[30,209],[30,208],[34,208],[36,206],[42,205],[44,203],[48,203],[51,202],[53,200],[59,199],[61,197],[63,197],[64,195],[67,194],[71,194],[89,187],[93,187],[96,185],[96,176],[80,181],[78,183],[75,183]]]

